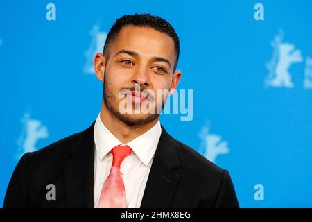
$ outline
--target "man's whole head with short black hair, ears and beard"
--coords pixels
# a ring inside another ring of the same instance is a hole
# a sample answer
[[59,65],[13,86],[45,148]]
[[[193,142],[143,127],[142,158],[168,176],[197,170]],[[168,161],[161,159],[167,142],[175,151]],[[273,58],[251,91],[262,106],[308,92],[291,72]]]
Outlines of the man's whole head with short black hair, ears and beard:
[[[96,76],[103,81],[105,107],[101,111],[128,124],[156,119],[157,106],[163,107],[168,97],[166,93],[157,96],[157,91],[172,93],[179,83],[181,71],[175,70],[179,53],[179,38],[166,20],[149,14],[117,19],[107,35],[103,54],[97,53],[94,58]],[[155,112],[123,113],[124,101],[133,105],[131,110],[144,105],[153,106]]]

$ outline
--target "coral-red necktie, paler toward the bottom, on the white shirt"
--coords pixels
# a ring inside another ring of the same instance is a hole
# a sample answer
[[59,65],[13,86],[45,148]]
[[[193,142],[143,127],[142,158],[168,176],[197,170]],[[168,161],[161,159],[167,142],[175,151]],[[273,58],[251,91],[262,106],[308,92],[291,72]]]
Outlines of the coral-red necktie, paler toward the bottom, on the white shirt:
[[125,208],[127,201],[125,198],[125,185],[123,185],[123,178],[121,178],[120,164],[132,153],[129,146],[115,146],[112,149],[113,162],[105,183],[102,187],[99,208]]

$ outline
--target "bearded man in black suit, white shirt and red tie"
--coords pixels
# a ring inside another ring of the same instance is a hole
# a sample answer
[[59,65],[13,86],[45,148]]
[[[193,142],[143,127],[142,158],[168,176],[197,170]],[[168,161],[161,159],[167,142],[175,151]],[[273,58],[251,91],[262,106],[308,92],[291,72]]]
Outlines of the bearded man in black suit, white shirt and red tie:
[[94,58],[103,82],[96,121],[21,157],[4,207],[239,207],[228,171],[159,123],[182,75],[179,53],[164,19],[117,19]]

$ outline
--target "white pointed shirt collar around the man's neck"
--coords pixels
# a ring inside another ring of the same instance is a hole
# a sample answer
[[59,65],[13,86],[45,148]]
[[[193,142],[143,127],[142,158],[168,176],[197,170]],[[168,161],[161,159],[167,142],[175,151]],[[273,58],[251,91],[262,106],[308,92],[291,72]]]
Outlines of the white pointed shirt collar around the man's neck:
[[148,131],[139,135],[127,144],[123,144],[119,141],[111,132],[106,128],[100,118],[100,114],[96,118],[94,125],[94,143],[96,145],[96,153],[100,160],[103,160],[107,153],[110,153],[112,148],[117,145],[128,145],[132,148],[132,151],[139,157],[141,162],[146,166],[155,154],[160,135],[162,134],[162,128],[159,120]]

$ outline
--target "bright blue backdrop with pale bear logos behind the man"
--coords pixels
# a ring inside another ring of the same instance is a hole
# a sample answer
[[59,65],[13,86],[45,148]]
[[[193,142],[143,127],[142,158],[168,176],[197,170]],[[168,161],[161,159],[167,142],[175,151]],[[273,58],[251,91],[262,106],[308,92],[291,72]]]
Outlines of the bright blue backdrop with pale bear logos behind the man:
[[[257,4],[260,3],[260,4]],[[241,207],[312,207],[312,1],[0,1],[0,205],[12,171],[87,128],[102,84],[92,59],[124,14],[180,36],[193,119],[173,137],[229,170]]]

